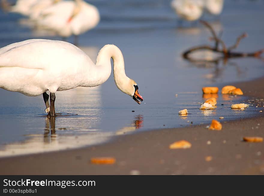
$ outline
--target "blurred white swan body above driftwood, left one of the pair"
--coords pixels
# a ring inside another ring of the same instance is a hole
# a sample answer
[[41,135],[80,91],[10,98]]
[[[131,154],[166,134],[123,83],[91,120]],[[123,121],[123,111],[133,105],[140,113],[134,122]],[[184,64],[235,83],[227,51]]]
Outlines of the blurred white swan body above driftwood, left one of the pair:
[[199,19],[203,13],[202,0],[173,0],[171,7],[180,18],[188,21]]

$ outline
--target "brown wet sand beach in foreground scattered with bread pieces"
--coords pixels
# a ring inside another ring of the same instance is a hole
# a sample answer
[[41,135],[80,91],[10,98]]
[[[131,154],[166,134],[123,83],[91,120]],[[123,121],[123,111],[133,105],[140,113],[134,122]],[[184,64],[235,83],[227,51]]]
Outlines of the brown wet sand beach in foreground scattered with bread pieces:
[[[233,84],[256,99],[264,98],[263,83],[264,78]],[[250,107],[256,107],[253,104]],[[255,118],[224,122],[221,131],[208,130],[206,124],[190,125],[122,135],[94,147],[1,158],[0,174],[264,174],[264,142],[242,142],[243,136],[264,137],[263,122],[264,112]],[[169,149],[182,139],[192,147]],[[90,163],[91,157],[100,156],[115,157],[116,163]],[[212,160],[205,161],[207,156]]]

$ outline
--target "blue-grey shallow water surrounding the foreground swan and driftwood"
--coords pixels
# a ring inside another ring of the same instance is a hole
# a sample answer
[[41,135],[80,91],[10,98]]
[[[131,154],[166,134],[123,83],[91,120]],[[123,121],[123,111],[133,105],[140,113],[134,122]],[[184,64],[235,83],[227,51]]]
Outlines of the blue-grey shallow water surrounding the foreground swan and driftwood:
[[[101,22],[80,36],[79,47],[95,62],[104,44],[119,46],[126,74],[137,82],[143,103],[138,105],[120,92],[113,75],[95,88],[78,87],[56,93],[55,109],[62,113],[56,118],[45,116],[42,96],[27,97],[0,89],[0,156],[94,145],[115,135],[187,126],[191,122],[206,126],[220,116],[224,116],[220,121],[227,121],[257,115],[259,109],[253,106],[244,111],[230,109],[231,104],[247,101],[243,96],[219,93],[215,110],[201,111],[199,104],[206,99],[202,86],[221,86],[263,76],[262,60],[230,59],[216,65],[182,59],[185,49],[208,43],[210,34],[199,24],[184,23],[184,27],[177,28],[169,1],[90,2],[98,7]],[[220,21],[208,15],[203,19],[212,22],[217,31],[223,29],[223,39],[229,45],[247,32],[249,37],[241,41],[238,50],[255,51],[264,45],[263,8],[262,1],[226,1]],[[19,25],[21,19],[18,14],[0,12],[0,47],[31,38],[60,39],[45,32],[32,32]],[[211,53],[202,55],[213,57]],[[187,117],[178,115],[184,108],[190,113]]]

